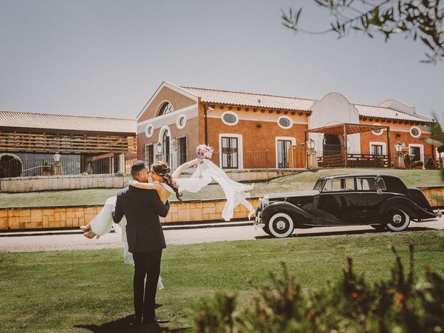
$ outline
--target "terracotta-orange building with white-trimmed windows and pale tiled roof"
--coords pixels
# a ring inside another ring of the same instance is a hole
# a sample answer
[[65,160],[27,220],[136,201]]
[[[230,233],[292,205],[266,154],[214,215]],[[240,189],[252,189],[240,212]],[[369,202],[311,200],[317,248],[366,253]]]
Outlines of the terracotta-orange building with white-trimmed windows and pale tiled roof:
[[[223,169],[303,168],[311,139],[320,161],[341,153],[390,161],[400,142],[413,160],[425,162],[436,160],[436,147],[423,140],[433,122],[394,100],[373,106],[337,93],[312,100],[164,82],[137,116],[137,155],[149,162],[162,158],[174,168],[193,159],[198,144],[208,144]],[[385,127],[349,135],[309,132],[338,124]]]

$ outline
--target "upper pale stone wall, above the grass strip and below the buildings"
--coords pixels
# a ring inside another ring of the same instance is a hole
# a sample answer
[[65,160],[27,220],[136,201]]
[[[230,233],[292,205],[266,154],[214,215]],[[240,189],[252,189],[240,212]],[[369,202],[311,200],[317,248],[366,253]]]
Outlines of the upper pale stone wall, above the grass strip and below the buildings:
[[[297,171],[298,172],[298,171]],[[249,170],[228,171],[228,177],[237,182],[256,182],[295,173],[293,170]],[[189,176],[189,175],[188,175]],[[185,177],[187,177],[185,175]],[[62,189],[117,188],[128,185],[131,179],[126,175],[87,175],[87,176],[37,176],[0,179],[3,193],[21,193]]]

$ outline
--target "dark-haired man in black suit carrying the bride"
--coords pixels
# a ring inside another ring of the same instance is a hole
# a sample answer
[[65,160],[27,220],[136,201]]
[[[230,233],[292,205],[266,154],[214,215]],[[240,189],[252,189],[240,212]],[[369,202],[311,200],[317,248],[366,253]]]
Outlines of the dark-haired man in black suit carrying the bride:
[[[139,182],[148,182],[149,169],[146,163],[134,162],[131,176]],[[126,216],[128,250],[133,253],[134,259],[135,320],[139,323],[168,323],[155,316],[154,311],[160,258],[162,249],[167,247],[159,215],[165,217],[168,211],[169,202],[164,205],[153,189],[129,186],[117,194],[113,219],[119,223],[122,216]]]

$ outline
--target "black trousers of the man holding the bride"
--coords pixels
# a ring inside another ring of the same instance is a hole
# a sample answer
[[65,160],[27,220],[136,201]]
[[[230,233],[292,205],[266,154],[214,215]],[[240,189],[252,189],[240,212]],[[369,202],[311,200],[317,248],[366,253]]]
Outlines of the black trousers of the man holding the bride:
[[[134,310],[136,317],[153,318],[155,293],[160,275],[162,250],[133,253],[134,259]],[[146,278],[146,282],[145,282]]]

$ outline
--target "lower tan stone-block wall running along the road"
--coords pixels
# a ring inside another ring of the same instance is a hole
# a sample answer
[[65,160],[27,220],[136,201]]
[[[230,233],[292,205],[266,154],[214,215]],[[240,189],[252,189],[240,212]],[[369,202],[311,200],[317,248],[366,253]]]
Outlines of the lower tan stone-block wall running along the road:
[[[173,202],[162,223],[221,221],[226,200],[187,200]],[[251,198],[257,207],[259,200]],[[68,207],[18,207],[0,208],[0,230],[26,230],[39,228],[68,228],[85,225],[94,219],[103,205],[76,205]],[[234,219],[246,219],[248,211],[242,205],[234,209]]]

